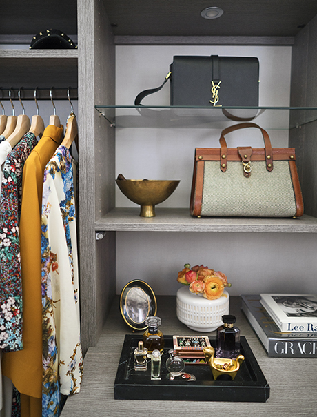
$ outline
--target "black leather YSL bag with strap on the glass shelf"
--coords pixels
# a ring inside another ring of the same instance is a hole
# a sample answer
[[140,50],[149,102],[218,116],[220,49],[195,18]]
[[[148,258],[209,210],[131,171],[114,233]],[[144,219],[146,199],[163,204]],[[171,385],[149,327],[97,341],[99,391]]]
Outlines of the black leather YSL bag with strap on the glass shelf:
[[170,79],[170,104],[257,107],[259,62],[256,57],[175,56],[158,88],[140,92],[134,105]]

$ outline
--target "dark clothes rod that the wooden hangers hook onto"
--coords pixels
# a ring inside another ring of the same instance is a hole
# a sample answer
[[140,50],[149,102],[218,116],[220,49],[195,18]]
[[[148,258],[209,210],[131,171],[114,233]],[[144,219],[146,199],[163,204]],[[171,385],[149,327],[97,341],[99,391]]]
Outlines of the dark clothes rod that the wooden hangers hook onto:
[[10,100],[9,92],[11,91],[11,99],[19,100],[19,91],[21,100],[34,100],[34,91],[36,90],[37,100],[50,100],[50,92],[52,91],[52,99],[55,100],[68,100],[68,91],[70,99],[78,100],[77,88],[1,88],[0,87],[0,100]]

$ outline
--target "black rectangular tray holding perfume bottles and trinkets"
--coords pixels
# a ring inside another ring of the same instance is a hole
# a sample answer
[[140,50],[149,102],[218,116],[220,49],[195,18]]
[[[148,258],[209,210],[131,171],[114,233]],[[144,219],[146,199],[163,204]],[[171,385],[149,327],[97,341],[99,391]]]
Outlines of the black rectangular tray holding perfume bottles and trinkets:
[[[150,379],[150,362],[147,371],[134,371],[133,352],[142,336],[126,334],[121,358],[114,381],[116,400],[178,400],[178,401],[245,401],[262,402],[269,398],[269,384],[258,365],[244,336],[241,336],[241,354],[245,360],[236,378],[214,380],[209,365],[186,365],[185,372],[194,374],[195,381],[181,377],[169,380],[165,363],[167,351],[173,347],[172,336],[164,336],[162,355],[162,379]],[[215,340],[210,339],[212,346]],[[225,376],[227,378],[227,376]],[[222,377],[221,377],[222,378]]]

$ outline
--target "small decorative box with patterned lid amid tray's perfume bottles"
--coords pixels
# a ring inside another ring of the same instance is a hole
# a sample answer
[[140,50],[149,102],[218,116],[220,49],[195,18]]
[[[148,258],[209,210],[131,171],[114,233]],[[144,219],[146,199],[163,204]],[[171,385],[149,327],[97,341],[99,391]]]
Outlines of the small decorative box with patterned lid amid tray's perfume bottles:
[[185,363],[206,364],[203,348],[210,346],[208,336],[173,336],[173,345],[176,355]]

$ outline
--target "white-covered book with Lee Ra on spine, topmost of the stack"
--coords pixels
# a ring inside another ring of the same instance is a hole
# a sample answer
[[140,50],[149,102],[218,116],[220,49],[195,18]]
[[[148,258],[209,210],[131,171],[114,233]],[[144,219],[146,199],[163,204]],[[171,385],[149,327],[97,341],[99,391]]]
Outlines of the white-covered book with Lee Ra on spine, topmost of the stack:
[[317,333],[317,296],[260,294],[260,303],[282,332]]

